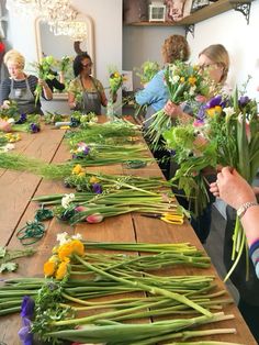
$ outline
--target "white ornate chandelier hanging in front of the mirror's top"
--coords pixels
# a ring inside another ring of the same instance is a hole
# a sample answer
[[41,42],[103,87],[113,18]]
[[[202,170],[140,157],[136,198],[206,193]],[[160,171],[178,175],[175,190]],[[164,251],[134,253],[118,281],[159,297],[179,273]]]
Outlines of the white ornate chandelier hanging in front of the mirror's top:
[[15,14],[41,16],[55,35],[68,35],[74,41],[83,41],[87,25],[77,21],[78,12],[70,0],[8,0],[7,9]]

